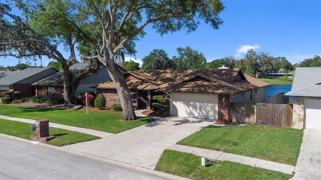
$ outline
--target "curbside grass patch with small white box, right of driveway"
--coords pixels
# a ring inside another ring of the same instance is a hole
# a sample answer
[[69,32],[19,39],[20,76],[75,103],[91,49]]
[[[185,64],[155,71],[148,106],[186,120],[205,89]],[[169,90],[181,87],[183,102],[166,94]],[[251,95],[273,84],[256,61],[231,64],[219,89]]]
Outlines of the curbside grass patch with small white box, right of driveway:
[[253,167],[230,161],[207,162],[201,166],[201,157],[175,150],[164,150],[155,170],[191,179],[289,179],[291,174]]

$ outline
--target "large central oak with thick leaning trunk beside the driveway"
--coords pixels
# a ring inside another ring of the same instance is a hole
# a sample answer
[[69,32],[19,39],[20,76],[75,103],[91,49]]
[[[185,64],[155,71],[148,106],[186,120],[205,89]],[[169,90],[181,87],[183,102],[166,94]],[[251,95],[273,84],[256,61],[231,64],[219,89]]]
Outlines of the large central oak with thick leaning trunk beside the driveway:
[[[52,4],[53,9],[59,13],[63,12],[58,6],[61,0],[50,1],[57,2]],[[91,44],[93,47],[89,53],[81,54],[81,57],[98,59],[105,65],[114,81],[123,109],[123,120],[135,119],[136,115],[126,80],[115,66],[115,58],[132,40],[142,38],[146,25],[151,24],[157,33],[163,35],[182,29],[187,33],[192,32],[197,29],[200,19],[209,23],[214,29],[218,29],[223,23],[219,17],[219,13],[224,9],[220,0],[66,0],[63,2],[69,3],[69,8],[74,9],[69,12],[77,12],[75,17],[81,19],[65,18],[70,20],[66,20],[71,22],[70,28],[77,32],[77,41]],[[68,17],[68,15],[72,14],[57,14],[58,17]]]

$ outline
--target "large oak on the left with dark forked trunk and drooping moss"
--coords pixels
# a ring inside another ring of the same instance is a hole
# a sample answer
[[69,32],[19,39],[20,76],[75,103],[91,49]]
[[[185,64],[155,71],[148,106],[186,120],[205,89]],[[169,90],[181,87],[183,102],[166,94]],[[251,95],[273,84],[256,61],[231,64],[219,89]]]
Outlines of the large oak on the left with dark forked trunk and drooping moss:
[[[76,79],[69,69],[76,62],[76,37],[86,16],[60,0],[8,2],[0,3],[0,56],[27,60],[47,56],[60,62],[64,70],[64,100],[71,104],[80,80],[99,69],[98,59]],[[68,57],[63,55],[64,51],[69,51]]]

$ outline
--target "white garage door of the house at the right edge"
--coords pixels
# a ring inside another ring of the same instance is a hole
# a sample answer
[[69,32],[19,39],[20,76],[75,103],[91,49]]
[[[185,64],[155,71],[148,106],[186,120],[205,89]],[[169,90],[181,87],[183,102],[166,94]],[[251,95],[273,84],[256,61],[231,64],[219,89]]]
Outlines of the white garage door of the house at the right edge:
[[305,128],[321,130],[321,100],[305,100]]

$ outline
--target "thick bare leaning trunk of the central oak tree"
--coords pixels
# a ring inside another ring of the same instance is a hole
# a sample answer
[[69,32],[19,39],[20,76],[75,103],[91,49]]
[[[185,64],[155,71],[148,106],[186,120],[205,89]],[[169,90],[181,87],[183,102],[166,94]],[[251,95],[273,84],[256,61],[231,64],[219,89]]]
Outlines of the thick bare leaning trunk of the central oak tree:
[[115,63],[107,63],[106,68],[111,79],[114,81],[118,98],[123,112],[123,120],[134,120],[136,119],[136,114],[132,106],[132,101],[130,97],[130,92],[124,75],[115,66]]

